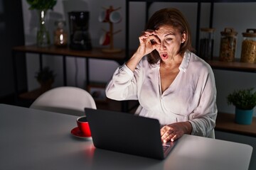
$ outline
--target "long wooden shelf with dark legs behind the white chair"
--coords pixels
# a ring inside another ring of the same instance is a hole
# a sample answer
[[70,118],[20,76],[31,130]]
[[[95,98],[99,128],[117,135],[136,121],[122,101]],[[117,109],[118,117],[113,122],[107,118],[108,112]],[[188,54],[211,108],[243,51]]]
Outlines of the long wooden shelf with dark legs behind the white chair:
[[[12,48],[13,52],[13,64],[14,64],[14,79],[15,79],[15,91],[16,91],[16,97],[28,99],[28,100],[34,100],[38,96],[42,94],[41,89],[35,89],[33,91],[28,91],[24,94],[19,94],[18,91],[18,73],[16,69],[17,60],[16,57],[25,57],[24,55],[17,55],[18,53],[33,53],[38,55],[39,57],[39,66],[40,69],[43,69],[43,55],[47,55],[47,57],[62,57],[63,59],[63,86],[67,86],[67,69],[66,69],[66,58],[67,57],[81,57],[85,59],[85,68],[86,68],[86,80],[87,85],[90,84],[90,65],[89,65],[89,59],[101,59],[101,60],[112,60],[117,62],[118,64],[124,64],[127,51],[122,50],[121,52],[102,52],[102,49],[100,47],[94,47],[92,50],[73,50],[69,47],[61,48],[61,47],[55,47],[54,45],[51,45],[50,47],[38,47],[36,45],[22,45],[22,46],[16,46]],[[133,50],[128,51],[129,54],[134,52]]]

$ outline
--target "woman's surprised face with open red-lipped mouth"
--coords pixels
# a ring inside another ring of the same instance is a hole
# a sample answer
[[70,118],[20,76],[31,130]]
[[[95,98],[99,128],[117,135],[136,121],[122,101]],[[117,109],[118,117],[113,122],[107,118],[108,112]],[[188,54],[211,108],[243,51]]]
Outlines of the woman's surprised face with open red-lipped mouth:
[[186,40],[186,34],[181,34],[172,26],[161,26],[158,30],[155,30],[155,33],[161,42],[156,50],[162,60],[174,58],[180,50],[181,43]]

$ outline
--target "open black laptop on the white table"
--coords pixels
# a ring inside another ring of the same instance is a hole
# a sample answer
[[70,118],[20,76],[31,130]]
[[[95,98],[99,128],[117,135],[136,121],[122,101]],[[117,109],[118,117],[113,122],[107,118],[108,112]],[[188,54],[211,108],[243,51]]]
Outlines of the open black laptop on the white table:
[[159,120],[131,113],[85,108],[96,148],[165,159],[175,142],[161,142]]

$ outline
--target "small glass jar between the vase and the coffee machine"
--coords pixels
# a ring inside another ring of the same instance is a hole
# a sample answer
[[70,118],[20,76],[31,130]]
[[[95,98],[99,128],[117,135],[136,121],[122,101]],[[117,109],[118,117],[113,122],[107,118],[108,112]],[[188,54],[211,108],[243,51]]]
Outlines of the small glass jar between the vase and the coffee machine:
[[68,34],[65,30],[65,21],[55,21],[54,45],[56,47],[67,47]]

